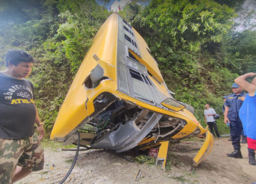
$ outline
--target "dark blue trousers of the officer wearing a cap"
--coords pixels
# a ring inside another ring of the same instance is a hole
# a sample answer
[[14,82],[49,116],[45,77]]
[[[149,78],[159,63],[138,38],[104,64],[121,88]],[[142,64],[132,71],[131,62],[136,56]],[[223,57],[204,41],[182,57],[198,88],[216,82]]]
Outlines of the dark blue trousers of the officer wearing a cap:
[[230,133],[232,137],[232,145],[234,150],[240,150],[240,136],[243,130],[243,125],[241,121],[231,121],[230,122]]

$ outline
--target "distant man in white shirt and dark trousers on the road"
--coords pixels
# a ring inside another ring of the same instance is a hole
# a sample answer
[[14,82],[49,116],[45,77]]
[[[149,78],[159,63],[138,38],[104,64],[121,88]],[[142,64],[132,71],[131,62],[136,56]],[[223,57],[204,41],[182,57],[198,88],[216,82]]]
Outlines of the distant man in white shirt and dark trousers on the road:
[[214,115],[216,114],[215,110],[213,108],[210,108],[209,104],[205,104],[205,111],[204,112],[205,112],[205,123],[207,125],[209,125],[210,131],[212,132],[213,136],[216,137],[214,132],[213,132],[213,128],[214,128],[218,139],[221,139],[221,136],[218,133],[216,120],[214,120]]

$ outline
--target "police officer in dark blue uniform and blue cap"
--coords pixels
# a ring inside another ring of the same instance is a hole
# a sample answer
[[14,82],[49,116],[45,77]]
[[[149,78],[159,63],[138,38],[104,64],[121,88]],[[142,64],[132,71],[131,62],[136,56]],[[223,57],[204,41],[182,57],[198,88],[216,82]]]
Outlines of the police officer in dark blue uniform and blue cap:
[[238,86],[236,83],[232,85],[233,93],[228,95],[225,102],[225,112],[224,112],[224,122],[230,124],[230,132],[232,138],[232,145],[234,151],[231,154],[227,154],[232,158],[243,158],[240,151],[240,136],[243,130],[242,122],[239,118],[239,109],[241,108],[244,101],[244,92],[242,92],[242,87]]

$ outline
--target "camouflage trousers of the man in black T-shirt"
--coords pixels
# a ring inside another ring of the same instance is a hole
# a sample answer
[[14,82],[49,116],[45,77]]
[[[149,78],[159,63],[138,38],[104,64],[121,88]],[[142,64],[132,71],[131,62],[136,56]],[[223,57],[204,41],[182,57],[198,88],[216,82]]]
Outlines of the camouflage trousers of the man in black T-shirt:
[[12,183],[17,165],[28,171],[43,169],[43,148],[36,133],[24,139],[0,139],[0,183]]

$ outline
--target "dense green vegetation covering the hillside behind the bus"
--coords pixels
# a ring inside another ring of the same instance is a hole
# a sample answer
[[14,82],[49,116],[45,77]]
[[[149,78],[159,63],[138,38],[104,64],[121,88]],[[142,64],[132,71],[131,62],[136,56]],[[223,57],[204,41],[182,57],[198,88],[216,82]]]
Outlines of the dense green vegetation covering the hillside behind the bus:
[[[204,104],[221,114],[233,79],[256,71],[254,27],[235,31],[243,1],[227,2],[155,0],[142,7],[133,1],[120,11],[146,40],[175,98],[191,104],[203,125]],[[29,79],[50,133],[95,33],[111,13],[92,0],[3,0],[0,6],[0,69],[9,48],[36,58]],[[218,124],[227,131],[222,120]]]

